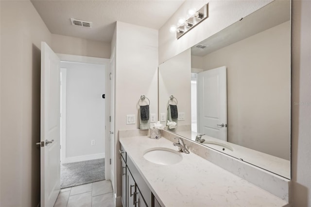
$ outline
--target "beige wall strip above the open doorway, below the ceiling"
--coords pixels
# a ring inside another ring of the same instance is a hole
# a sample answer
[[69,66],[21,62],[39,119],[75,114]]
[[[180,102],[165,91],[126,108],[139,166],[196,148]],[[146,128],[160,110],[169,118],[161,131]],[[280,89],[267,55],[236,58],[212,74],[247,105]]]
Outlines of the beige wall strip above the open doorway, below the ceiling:
[[52,34],[55,53],[110,58],[110,43]]

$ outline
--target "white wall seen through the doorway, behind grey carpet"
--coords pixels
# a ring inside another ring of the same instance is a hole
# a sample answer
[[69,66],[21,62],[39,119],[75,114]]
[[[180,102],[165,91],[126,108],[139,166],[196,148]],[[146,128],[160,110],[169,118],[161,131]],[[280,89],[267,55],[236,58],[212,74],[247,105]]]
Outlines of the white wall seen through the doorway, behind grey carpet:
[[61,62],[60,67],[67,69],[66,159],[62,162],[104,158],[105,66]]

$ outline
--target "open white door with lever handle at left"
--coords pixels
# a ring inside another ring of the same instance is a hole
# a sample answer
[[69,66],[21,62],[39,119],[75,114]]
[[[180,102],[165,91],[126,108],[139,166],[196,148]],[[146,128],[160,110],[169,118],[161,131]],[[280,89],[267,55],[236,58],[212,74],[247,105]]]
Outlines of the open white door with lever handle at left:
[[41,42],[41,207],[52,207],[60,190],[59,64],[58,56]]

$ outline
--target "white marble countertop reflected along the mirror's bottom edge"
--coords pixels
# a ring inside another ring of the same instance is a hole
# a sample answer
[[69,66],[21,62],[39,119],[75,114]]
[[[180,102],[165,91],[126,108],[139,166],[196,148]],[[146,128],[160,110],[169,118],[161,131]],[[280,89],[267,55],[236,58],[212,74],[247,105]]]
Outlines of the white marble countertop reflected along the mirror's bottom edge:
[[[192,140],[195,140],[195,136],[199,135],[200,133],[196,133],[193,131],[179,131],[178,135],[186,138],[191,138]],[[220,142],[225,145],[228,145],[232,147],[233,151],[226,150],[224,153],[227,155],[231,155],[237,158],[242,158],[243,161],[251,163],[253,165],[256,165],[260,168],[266,169],[270,172],[276,173],[278,175],[281,175],[285,178],[291,177],[291,161],[282,159],[273,155],[268,155],[256,150],[252,150],[246,147],[242,147],[237,144],[233,144],[227,141],[223,141],[217,138],[212,138],[207,135],[202,136],[206,141],[215,141]],[[208,143],[203,143],[206,146],[209,146],[213,149],[216,149],[218,151],[222,151],[221,146],[217,146],[215,144],[211,145]]]

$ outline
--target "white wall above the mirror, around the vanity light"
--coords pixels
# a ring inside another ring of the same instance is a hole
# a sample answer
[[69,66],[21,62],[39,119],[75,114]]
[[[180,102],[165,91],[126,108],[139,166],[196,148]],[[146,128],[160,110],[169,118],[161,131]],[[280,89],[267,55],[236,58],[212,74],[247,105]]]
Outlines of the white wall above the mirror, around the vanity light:
[[[159,30],[159,64],[218,33],[271,1],[186,0]],[[186,17],[189,8],[201,8],[206,3],[209,7],[208,18],[177,40],[176,34],[170,33],[171,25],[176,24],[180,17]]]

